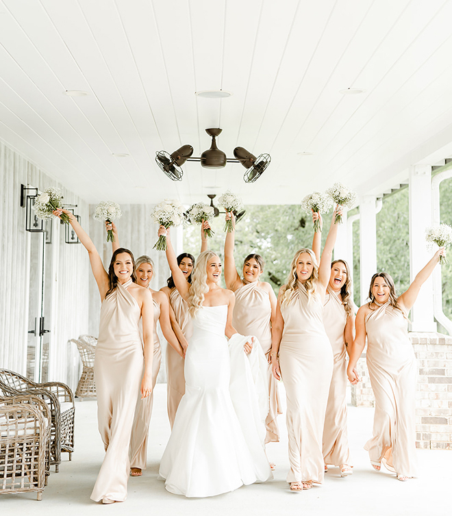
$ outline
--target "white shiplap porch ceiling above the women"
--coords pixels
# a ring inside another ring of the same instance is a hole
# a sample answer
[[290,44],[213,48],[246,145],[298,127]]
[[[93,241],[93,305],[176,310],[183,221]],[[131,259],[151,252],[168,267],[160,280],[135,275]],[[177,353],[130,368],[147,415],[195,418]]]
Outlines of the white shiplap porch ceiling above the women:
[[[452,142],[451,19],[451,0],[0,0],[0,139],[92,203],[379,194]],[[155,151],[199,156],[207,127],[228,157],[270,153],[264,175],[166,178]]]

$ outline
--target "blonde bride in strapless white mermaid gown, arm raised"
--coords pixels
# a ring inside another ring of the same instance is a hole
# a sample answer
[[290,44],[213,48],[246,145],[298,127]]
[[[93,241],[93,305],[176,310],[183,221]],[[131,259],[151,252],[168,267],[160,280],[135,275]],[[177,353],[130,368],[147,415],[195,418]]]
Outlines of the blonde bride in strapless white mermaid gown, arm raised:
[[[231,324],[234,293],[218,285],[221,261],[212,251],[199,255],[190,285],[177,266],[169,232],[161,226],[159,235],[164,234],[166,257],[175,286],[188,303],[193,333],[185,359],[186,391],[160,463],[160,476],[171,493],[198,498],[264,482],[271,478],[271,469],[263,443],[246,439],[244,432],[249,435],[246,428],[253,422],[243,417],[239,422],[229,394],[225,336],[237,333]],[[244,344],[245,352],[251,352],[252,346]]]

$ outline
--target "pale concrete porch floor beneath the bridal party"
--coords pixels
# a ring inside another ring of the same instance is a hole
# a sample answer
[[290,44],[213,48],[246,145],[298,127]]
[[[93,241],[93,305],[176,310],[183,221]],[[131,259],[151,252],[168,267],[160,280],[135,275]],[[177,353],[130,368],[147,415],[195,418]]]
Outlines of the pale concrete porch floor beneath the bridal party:
[[[285,404],[284,389],[280,389]],[[63,454],[60,473],[52,473],[42,501],[36,493],[1,495],[1,514],[16,512],[39,515],[452,515],[452,452],[418,450],[419,478],[399,482],[393,474],[377,473],[368,461],[363,445],[371,436],[373,409],[349,407],[349,442],[355,466],[353,476],[340,478],[331,467],[321,487],[290,493],[287,435],[284,414],[279,416],[281,442],[268,445],[268,458],[277,469],[274,479],[260,485],[244,486],[214,498],[186,499],[172,495],[158,480],[158,467],[169,435],[166,416],[166,385],[155,389],[154,412],[148,450],[148,469],[140,478],[129,479],[129,495],[124,503],[102,506],[90,500],[92,486],[103,459],[97,432],[96,402],[77,401],[75,452],[68,462]]]

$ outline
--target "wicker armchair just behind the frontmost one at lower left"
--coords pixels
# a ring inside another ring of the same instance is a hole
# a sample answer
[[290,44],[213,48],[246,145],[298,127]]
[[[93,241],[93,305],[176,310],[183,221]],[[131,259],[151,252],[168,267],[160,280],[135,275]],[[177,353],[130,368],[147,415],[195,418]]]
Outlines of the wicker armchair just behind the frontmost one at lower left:
[[36,383],[25,376],[0,369],[0,391],[5,396],[34,394],[39,396],[51,410],[51,464],[58,472],[61,452],[68,452],[69,460],[74,451],[75,404],[71,389],[60,382]]

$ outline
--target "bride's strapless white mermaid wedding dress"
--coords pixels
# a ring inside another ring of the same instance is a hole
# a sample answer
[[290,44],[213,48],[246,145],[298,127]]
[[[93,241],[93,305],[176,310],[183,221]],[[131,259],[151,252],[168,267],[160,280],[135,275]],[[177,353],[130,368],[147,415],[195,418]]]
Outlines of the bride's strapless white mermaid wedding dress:
[[202,498],[271,478],[264,447],[249,447],[244,437],[252,415],[239,422],[231,402],[226,319],[227,305],[201,307],[193,318],[186,391],[160,463],[171,493]]

